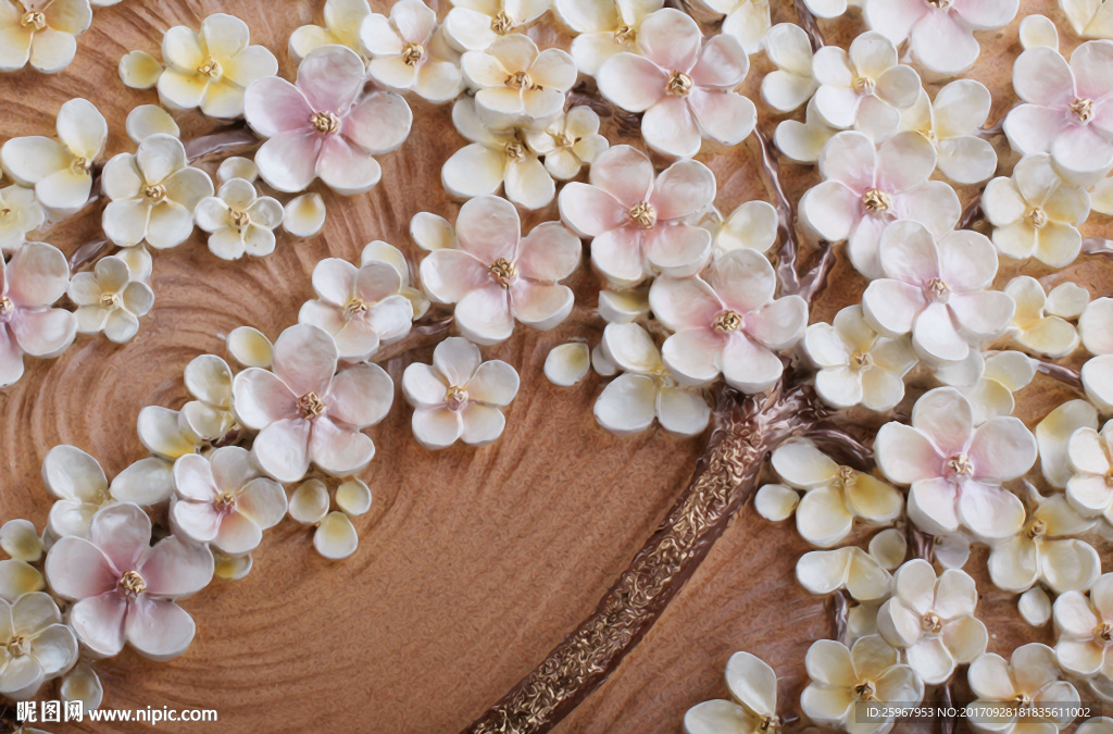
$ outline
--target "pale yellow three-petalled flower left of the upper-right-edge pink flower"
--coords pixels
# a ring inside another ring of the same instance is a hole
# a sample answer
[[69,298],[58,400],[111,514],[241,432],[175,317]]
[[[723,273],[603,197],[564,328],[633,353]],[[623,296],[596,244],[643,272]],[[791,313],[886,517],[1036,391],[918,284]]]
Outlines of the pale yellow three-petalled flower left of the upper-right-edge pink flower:
[[979,134],[993,99],[979,81],[957,79],[940,89],[933,102],[920,92],[900,112],[900,129],[926,137],[938,155],[939,173],[956,184],[978,184],[997,169],[997,151]]

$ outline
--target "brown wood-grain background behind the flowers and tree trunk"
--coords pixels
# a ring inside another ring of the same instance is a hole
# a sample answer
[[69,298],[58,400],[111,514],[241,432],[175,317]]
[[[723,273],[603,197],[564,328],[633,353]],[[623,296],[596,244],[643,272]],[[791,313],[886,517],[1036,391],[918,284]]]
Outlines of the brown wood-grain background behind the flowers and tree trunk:
[[[445,4],[437,10],[443,13]],[[789,0],[770,4],[775,22],[795,19]],[[286,40],[298,26],[319,25],[322,6],[321,0],[125,0],[98,9],[92,28],[78,39],[77,59],[62,74],[0,77],[0,135],[52,135],[61,104],[85,96],[109,120],[108,151],[131,150],[124,119],[132,107],[156,102],[157,95],[122,86],[117,63],[124,53],[157,55],[167,28],[197,28],[209,13],[230,12],[248,22],[253,42],[274,50],[282,72],[292,78]],[[390,2],[372,6],[384,11]],[[1053,0],[1023,0],[1017,21],[1030,12],[1044,12],[1066,28]],[[1021,50],[1016,27],[981,33],[983,53],[967,75],[993,92],[991,123],[1013,102],[1011,67]],[[829,41],[845,46],[860,21],[851,13],[824,28]],[[567,47],[568,38],[558,32],[532,33],[542,43]],[[1076,43],[1065,30],[1063,36],[1064,47]],[[752,60],[745,88],[757,99],[768,65]],[[365,243],[382,238],[416,260],[410,218],[418,211],[454,217],[459,204],[443,194],[440,169],[464,141],[447,106],[412,105],[413,133],[401,150],[382,159],[383,185],[352,198],[313,187],[328,205],[321,234],[307,241],[279,236],[273,256],[226,263],[210,255],[196,233],[156,256],[157,302],[132,342],[117,346],[79,336],[60,359],[28,361],[23,380],[0,392],[0,518],[28,517],[42,526],[50,500],[39,468],[57,443],[86,449],[109,476],[142,457],[135,434],[140,408],[183,404],[185,364],[205,352],[223,354],[224,335],[235,326],[248,324],[274,337],[294,323],[298,306],[312,297],[309,273],[322,257],[356,261]],[[176,117],[184,137],[217,127],[197,112]],[[762,114],[768,134],[775,123]],[[613,120],[604,131],[612,143],[629,141]],[[722,212],[767,197],[752,139],[701,158],[717,174]],[[794,200],[817,179],[810,168],[785,169]],[[972,194],[961,193],[964,203]],[[555,206],[525,217],[530,224],[553,218]],[[99,211],[67,221],[47,239],[71,254],[98,234]],[[1086,234],[1113,236],[1113,227],[1095,215]],[[1002,283],[1015,272],[1045,274],[1033,265],[1009,267]],[[1107,290],[1104,260],[1084,257],[1056,276],[1067,277],[1094,292]],[[582,302],[592,305],[597,288],[587,268],[575,285]],[[812,320],[830,320],[863,287],[840,262]],[[158,664],[126,650],[97,665],[104,705],[219,712],[217,725],[160,725],[165,732],[465,726],[591,611],[672,503],[701,449],[700,439],[679,441],[654,431],[615,438],[598,428],[591,407],[599,379],[558,389],[541,373],[549,349],[573,336],[594,339],[598,332],[582,322],[543,334],[521,330],[509,343],[485,350],[489,358],[510,361],[523,378],[506,433],[492,447],[421,449],[400,397],[387,420],[371,430],[378,453],[364,478],[375,502],[356,519],[357,552],[327,561],[313,551],[308,529],[284,522],[266,535],[247,578],[216,581],[185,603],[198,633],[184,656]],[[415,356],[427,360],[429,351]],[[404,362],[387,366],[398,379]],[[1020,395],[1021,413],[1034,424],[1065,394],[1037,379]],[[778,671],[782,708],[794,711],[805,684],[804,654],[812,639],[833,633],[824,600],[795,583],[794,566],[805,550],[795,530],[774,527],[747,507],[640,646],[559,731],[679,731],[689,706],[726,695],[722,669],[739,649]],[[984,555],[968,568],[984,569]],[[1022,639],[1051,640],[1048,630],[1024,626],[1012,599],[987,584],[982,589],[991,650],[1007,654]],[[53,697],[51,688],[45,694]],[[148,730],[87,724],[65,731]]]

